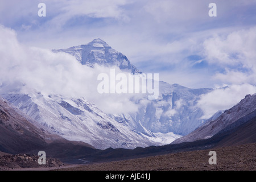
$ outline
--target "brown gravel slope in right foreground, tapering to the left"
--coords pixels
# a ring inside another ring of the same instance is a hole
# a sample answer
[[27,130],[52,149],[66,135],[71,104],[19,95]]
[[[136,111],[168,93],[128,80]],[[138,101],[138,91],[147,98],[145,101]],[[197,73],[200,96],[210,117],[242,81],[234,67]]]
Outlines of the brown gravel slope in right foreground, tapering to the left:
[[[219,147],[209,150],[179,152],[150,156],[146,158],[119,160],[115,162],[85,164],[71,168],[59,168],[57,170],[70,171],[169,171],[169,170],[256,170],[256,143],[240,146]],[[217,153],[217,164],[210,165],[209,151]]]

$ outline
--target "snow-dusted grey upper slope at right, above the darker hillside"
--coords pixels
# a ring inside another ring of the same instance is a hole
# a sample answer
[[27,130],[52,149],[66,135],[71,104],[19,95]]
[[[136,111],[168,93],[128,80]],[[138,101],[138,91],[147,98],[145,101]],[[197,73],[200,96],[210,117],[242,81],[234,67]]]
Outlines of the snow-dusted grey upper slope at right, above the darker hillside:
[[[256,110],[256,94],[247,95],[241,102],[232,108],[224,111],[217,119],[204,123],[201,127],[193,131],[192,133],[176,139],[172,144],[182,142],[193,142],[195,140],[208,139],[217,134],[224,128],[232,126],[233,123],[241,125],[239,119],[246,116],[246,120],[253,119],[255,117]],[[243,120],[242,120],[243,121]]]

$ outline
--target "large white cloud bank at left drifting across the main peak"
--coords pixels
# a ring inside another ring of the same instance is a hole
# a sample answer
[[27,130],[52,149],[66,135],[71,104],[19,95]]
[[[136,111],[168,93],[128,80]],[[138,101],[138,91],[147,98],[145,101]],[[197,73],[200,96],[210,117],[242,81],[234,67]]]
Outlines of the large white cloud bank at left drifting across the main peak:
[[[6,93],[30,89],[48,96],[84,97],[106,113],[129,113],[137,110],[130,101],[133,94],[99,94],[97,76],[110,68],[89,68],[68,53],[53,53],[49,49],[26,47],[18,42],[14,30],[0,26],[0,91]],[[115,68],[118,70],[118,68]],[[23,86],[26,85],[26,86]]]

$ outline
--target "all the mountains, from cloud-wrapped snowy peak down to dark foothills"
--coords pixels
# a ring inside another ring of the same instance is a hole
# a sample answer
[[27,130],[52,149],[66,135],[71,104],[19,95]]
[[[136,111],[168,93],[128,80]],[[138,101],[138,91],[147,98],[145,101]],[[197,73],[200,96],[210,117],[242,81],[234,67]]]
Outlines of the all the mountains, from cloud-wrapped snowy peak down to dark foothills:
[[[101,39],[52,52],[72,55],[92,69],[98,64],[133,75],[143,73]],[[88,98],[45,95],[26,84],[22,88],[26,89],[0,87],[0,150],[11,154],[45,150],[59,158],[100,160],[255,142],[251,129],[256,94],[201,119],[204,112],[197,101],[213,89],[159,81],[158,99],[138,94],[130,98],[137,111],[117,114],[105,113]]]

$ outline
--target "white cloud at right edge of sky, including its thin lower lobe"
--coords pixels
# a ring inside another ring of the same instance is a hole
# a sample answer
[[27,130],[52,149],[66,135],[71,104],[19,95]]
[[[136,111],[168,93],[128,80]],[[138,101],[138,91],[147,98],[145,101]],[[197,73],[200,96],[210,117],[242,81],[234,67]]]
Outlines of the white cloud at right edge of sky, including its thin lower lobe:
[[225,69],[213,77],[226,84],[256,84],[256,27],[215,35],[203,43],[205,59]]

